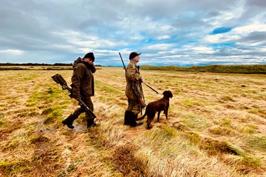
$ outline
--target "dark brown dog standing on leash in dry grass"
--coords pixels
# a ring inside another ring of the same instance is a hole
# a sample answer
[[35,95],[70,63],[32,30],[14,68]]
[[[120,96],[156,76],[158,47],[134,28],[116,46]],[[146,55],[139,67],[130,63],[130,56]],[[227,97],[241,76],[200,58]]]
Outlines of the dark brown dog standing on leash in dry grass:
[[169,108],[169,100],[172,98],[172,92],[171,91],[164,91],[162,93],[163,97],[160,98],[160,100],[153,101],[151,103],[148,103],[145,114],[143,117],[138,118],[136,120],[143,120],[145,116],[147,115],[147,126],[148,129],[151,128],[150,123],[153,122],[153,119],[155,117],[155,113],[158,112],[157,116],[157,122],[159,122],[160,119],[160,112],[163,110],[163,113],[166,116],[166,119],[168,120],[167,114],[168,114],[168,108]]

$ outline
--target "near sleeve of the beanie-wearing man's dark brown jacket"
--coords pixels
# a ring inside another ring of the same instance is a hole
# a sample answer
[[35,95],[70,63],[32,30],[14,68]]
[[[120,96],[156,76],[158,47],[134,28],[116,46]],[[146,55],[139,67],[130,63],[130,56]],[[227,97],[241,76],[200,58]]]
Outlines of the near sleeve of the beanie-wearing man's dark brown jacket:
[[82,81],[82,77],[84,75],[84,65],[79,64],[77,67],[74,68],[73,70],[73,75],[72,75],[72,97],[74,99],[80,98],[80,93],[79,93],[79,87]]

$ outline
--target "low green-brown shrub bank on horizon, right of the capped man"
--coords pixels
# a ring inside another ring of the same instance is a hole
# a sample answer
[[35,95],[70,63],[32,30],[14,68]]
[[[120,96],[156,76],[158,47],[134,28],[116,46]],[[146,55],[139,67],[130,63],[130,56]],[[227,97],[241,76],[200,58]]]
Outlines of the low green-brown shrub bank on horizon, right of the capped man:
[[215,73],[233,73],[233,74],[266,74],[266,64],[254,65],[209,65],[209,66],[191,66],[191,67],[177,67],[177,66],[163,66],[155,67],[151,65],[143,65],[141,69],[144,70],[164,70],[164,71],[178,71],[178,72],[215,72]]

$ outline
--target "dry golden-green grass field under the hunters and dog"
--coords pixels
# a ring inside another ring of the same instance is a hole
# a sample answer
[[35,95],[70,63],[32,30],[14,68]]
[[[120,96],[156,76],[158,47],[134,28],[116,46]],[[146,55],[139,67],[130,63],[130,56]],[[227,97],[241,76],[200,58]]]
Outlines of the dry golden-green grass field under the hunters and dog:
[[57,73],[71,84],[71,70],[0,71],[0,176],[266,176],[263,74],[140,68],[160,93],[143,84],[145,103],[173,93],[169,120],[161,113],[147,130],[123,125],[123,68],[100,67],[92,98],[100,126],[87,129],[82,114],[70,130],[61,121],[78,105],[52,80]]

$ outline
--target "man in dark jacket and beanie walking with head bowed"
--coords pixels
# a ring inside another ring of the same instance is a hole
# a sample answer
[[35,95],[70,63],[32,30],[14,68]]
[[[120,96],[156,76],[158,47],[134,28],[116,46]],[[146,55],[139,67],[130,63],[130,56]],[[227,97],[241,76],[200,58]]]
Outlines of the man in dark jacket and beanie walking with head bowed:
[[[91,96],[94,96],[94,76],[96,72],[94,67],[94,53],[89,52],[83,58],[78,57],[73,63],[73,74],[72,74],[72,98],[79,99],[82,96],[82,100],[89,107],[90,110],[94,110]],[[85,110],[80,107],[74,110],[70,116],[62,121],[64,125],[73,129],[73,121],[79,117]],[[96,126],[94,118],[89,113],[85,112],[87,118],[87,127]]]

